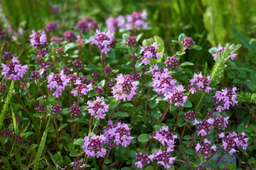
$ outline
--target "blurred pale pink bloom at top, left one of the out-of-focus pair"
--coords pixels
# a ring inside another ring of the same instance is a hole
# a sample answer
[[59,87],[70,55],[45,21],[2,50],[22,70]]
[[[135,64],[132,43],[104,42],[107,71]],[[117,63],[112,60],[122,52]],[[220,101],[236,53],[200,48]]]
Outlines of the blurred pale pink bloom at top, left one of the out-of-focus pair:
[[117,18],[107,18],[106,20],[107,30],[115,31],[117,28],[123,28],[125,26],[124,16],[118,16]]

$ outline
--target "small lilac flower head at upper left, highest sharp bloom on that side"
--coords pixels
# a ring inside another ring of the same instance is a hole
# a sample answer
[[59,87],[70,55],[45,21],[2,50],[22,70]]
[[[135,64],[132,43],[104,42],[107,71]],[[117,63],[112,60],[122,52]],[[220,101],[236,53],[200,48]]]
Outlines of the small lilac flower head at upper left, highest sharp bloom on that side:
[[48,45],[46,33],[44,31],[41,34],[38,34],[35,30],[32,30],[32,34],[29,35],[29,37],[31,38],[31,46],[38,48]]

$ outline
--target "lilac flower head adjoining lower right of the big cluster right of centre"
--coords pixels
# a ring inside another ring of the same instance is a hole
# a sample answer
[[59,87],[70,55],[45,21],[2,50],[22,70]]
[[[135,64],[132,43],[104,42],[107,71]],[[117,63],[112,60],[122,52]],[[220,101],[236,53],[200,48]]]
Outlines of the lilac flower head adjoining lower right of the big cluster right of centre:
[[173,92],[166,92],[164,94],[164,100],[169,103],[174,102],[174,106],[184,106],[184,103],[188,100],[188,96],[185,96],[182,91],[185,91],[182,85],[176,86]]

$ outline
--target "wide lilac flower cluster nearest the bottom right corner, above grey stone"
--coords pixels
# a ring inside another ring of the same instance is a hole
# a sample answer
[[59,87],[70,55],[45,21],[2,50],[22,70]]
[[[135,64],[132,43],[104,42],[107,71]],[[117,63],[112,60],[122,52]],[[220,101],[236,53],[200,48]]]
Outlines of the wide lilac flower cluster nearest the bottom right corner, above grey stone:
[[247,149],[248,147],[248,140],[249,138],[245,138],[245,132],[242,132],[241,134],[237,134],[236,132],[229,133],[225,136],[224,132],[220,133],[219,138],[222,139],[222,145],[226,152],[229,154],[234,154],[237,152],[235,149],[235,146],[242,147],[242,149]]

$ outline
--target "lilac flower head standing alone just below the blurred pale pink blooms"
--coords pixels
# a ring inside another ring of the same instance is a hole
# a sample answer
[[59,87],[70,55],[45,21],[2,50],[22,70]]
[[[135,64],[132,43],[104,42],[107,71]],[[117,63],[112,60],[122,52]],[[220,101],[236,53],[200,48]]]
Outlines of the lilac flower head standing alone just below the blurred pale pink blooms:
[[99,50],[102,53],[105,53],[107,55],[107,52],[110,51],[110,45],[112,45],[113,40],[114,40],[114,35],[110,33],[110,31],[105,32],[100,32],[100,30],[96,30],[96,35],[95,38],[90,38],[92,41],[91,44],[97,45]]

